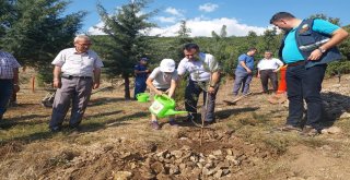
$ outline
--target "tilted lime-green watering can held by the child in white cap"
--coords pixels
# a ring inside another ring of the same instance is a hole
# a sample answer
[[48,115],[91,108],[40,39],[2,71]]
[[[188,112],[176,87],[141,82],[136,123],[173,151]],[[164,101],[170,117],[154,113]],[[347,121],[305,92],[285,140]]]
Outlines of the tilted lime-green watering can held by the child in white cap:
[[187,111],[176,111],[175,100],[167,95],[154,95],[154,103],[150,107],[150,111],[158,118],[164,118],[171,115],[187,113]]

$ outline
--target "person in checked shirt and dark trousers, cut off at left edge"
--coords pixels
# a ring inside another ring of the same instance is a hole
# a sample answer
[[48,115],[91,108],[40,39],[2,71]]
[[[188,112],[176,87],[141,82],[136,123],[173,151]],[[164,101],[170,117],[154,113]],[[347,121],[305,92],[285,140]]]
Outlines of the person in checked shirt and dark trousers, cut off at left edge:
[[20,89],[20,67],[18,60],[11,53],[0,50],[0,121],[7,111],[12,93]]

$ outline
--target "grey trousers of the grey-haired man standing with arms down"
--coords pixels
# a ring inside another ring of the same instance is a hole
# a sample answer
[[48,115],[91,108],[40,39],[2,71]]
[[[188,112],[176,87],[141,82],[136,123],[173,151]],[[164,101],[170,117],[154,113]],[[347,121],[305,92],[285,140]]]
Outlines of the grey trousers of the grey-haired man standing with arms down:
[[72,103],[69,125],[75,128],[80,124],[85,112],[93,86],[92,79],[61,79],[62,86],[56,91],[52,105],[52,115],[49,128],[60,128]]

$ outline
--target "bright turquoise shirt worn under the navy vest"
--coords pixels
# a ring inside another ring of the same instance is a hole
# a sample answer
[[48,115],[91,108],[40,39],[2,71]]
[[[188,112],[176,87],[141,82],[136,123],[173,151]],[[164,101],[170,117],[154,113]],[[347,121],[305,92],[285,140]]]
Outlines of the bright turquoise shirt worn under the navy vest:
[[[295,31],[298,27],[291,29],[284,39],[284,47],[282,50],[283,61],[285,63],[292,63],[300,60],[304,60],[303,55],[299,51]],[[335,31],[340,28],[339,26],[329,23],[325,20],[315,19],[312,29],[326,35],[331,35]]]

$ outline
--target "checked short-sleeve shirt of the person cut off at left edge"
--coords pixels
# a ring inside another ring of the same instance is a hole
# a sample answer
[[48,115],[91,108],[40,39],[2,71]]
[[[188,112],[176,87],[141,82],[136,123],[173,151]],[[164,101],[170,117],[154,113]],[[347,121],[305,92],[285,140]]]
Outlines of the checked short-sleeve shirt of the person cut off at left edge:
[[13,69],[20,68],[18,60],[9,52],[0,50],[0,79],[13,79]]

